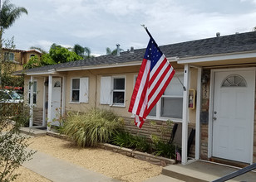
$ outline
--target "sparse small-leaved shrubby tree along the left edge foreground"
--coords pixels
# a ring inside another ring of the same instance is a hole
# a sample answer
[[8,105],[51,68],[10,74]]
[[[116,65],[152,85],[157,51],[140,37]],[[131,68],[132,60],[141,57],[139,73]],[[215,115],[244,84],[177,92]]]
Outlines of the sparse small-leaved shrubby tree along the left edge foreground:
[[[13,41],[7,47],[13,48]],[[0,49],[2,51],[2,49]],[[0,54],[1,55],[1,54]],[[13,63],[4,61],[0,57],[0,75],[2,82],[0,87],[17,85],[12,76]],[[22,77],[19,77],[22,78]],[[13,172],[26,160],[30,160],[33,151],[27,150],[29,145],[28,137],[22,136],[20,127],[29,120],[29,112],[23,103],[10,103],[7,101],[7,93],[14,91],[2,90],[0,93],[0,181],[12,181],[17,178]]]

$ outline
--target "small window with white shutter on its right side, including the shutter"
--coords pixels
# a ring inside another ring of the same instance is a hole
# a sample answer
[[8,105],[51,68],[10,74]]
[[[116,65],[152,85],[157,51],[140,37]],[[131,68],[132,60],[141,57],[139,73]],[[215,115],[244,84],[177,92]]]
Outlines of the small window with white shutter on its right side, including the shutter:
[[71,102],[88,103],[89,78],[71,79]]

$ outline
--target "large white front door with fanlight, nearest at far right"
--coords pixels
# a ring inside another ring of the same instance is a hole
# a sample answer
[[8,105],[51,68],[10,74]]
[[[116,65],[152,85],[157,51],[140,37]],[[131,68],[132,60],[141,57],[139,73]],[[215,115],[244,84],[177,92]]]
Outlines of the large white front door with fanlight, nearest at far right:
[[214,75],[213,156],[250,163],[254,133],[254,69]]

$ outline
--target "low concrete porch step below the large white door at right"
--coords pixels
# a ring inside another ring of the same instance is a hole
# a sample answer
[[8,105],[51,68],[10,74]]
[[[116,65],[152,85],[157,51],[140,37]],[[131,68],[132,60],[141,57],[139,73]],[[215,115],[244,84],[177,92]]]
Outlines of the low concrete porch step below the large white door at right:
[[[236,170],[239,169],[226,165],[196,161],[189,165],[168,165],[163,168],[162,175],[190,182],[206,182],[219,179],[220,177],[229,175]],[[256,173],[249,172],[229,181],[254,182],[256,181]]]

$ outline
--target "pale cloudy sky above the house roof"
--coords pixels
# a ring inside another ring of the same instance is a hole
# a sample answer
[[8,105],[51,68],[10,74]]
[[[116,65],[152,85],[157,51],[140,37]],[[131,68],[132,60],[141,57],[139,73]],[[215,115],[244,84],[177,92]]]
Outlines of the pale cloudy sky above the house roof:
[[[3,1],[2,1],[3,2]],[[106,47],[128,50],[145,48],[149,36],[158,45],[253,31],[256,0],[10,0],[26,7],[4,32],[14,36],[17,49],[31,46],[49,50],[52,43],[75,44],[106,55]]]

